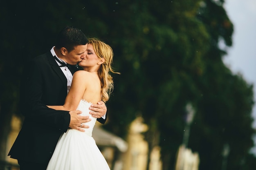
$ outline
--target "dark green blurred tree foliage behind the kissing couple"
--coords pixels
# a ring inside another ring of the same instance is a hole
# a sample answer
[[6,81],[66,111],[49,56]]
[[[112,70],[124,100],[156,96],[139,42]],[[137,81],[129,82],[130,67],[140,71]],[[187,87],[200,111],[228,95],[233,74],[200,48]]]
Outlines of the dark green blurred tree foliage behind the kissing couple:
[[[27,6],[27,3],[31,6]],[[22,66],[54,46],[63,26],[79,27],[112,46],[115,89],[105,128],[125,137],[142,116],[150,127],[149,149],[162,148],[163,170],[174,168],[186,124],[185,106],[195,117],[189,148],[200,169],[219,170],[229,147],[227,169],[251,170],[254,155],[253,86],[222,62],[233,24],[224,0],[7,1],[0,6],[0,130],[5,146],[11,115],[18,115]],[[243,140],[241,140],[243,139]],[[5,155],[1,155],[1,159]]]

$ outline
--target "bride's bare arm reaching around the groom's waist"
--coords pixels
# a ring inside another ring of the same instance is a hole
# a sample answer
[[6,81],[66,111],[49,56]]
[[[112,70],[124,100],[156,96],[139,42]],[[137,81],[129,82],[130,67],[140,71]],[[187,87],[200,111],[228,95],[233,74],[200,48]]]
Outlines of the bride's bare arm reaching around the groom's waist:
[[83,93],[86,89],[86,81],[84,81],[85,77],[83,72],[76,71],[74,73],[72,79],[72,85],[70,87],[70,91],[67,94],[65,99],[65,104],[63,106],[48,106],[49,108],[55,110],[76,110],[77,106],[79,105],[80,100],[83,97]]

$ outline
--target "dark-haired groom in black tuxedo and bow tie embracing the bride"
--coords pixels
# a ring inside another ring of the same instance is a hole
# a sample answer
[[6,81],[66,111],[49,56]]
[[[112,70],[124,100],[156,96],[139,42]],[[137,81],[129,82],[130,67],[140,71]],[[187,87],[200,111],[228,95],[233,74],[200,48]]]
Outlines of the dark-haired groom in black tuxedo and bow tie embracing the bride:
[[[81,111],[63,111],[46,105],[63,105],[78,70],[88,40],[74,27],[64,28],[51,51],[35,57],[24,68],[20,83],[20,111],[25,116],[19,135],[8,155],[18,159],[20,170],[45,170],[61,134],[68,128],[84,131],[90,121]],[[93,117],[105,123],[106,105],[90,108]],[[65,149],[65,148],[64,148]]]

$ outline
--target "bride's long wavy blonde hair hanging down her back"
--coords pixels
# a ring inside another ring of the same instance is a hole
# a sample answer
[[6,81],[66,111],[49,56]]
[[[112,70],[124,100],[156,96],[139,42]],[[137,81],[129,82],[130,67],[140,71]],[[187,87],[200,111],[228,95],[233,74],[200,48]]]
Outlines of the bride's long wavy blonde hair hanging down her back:
[[103,62],[99,68],[98,75],[101,81],[101,99],[103,102],[106,102],[114,88],[113,78],[109,74],[109,71],[120,74],[113,71],[111,67],[114,53],[108,44],[98,40],[97,38],[88,38],[88,44],[92,44],[94,51],[99,58],[105,59],[105,62]]

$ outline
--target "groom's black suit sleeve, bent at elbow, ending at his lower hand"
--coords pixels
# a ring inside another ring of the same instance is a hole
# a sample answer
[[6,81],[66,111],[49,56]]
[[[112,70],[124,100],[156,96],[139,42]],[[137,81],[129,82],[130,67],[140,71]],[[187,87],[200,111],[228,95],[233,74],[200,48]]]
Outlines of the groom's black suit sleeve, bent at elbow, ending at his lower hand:
[[20,83],[20,111],[31,124],[50,126],[66,132],[70,124],[68,111],[48,108],[42,101],[45,77],[42,66],[31,61],[25,67]]

